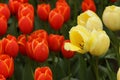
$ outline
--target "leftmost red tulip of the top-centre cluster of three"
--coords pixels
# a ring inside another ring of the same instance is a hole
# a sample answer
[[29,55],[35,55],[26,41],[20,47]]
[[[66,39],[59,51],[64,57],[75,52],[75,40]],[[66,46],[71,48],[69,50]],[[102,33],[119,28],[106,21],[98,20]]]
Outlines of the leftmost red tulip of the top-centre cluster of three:
[[38,17],[43,21],[47,21],[50,13],[50,9],[51,7],[49,4],[39,4],[37,6]]

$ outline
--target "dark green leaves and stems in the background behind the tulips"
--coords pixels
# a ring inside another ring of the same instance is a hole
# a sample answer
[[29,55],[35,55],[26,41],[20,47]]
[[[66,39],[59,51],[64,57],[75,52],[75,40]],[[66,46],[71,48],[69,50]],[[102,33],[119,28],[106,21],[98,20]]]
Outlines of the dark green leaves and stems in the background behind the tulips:
[[[41,21],[36,14],[37,4],[43,2],[50,3],[51,7],[54,8],[56,1],[57,0],[29,0],[29,3],[31,3],[35,9],[34,30],[45,29],[49,34],[60,34],[64,35],[65,39],[69,39],[68,32],[71,27],[77,24],[77,16],[82,12],[82,0],[66,0],[71,7],[71,17],[68,22],[64,23],[60,31],[51,29],[49,23]],[[8,0],[0,0],[0,2],[8,3]],[[95,4],[97,7],[96,13],[102,18],[102,13],[106,6],[113,4],[120,6],[120,1],[118,0],[115,3],[112,3],[109,0],[95,0]],[[120,66],[119,31],[112,32],[105,26],[104,30],[111,39],[111,45],[106,55],[95,57],[91,56],[89,53],[76,53],[73,58],[65,59],[61,55],[61,52],[54,53],[50,51],[47,61],[38,63],[29,59],[27,56],[19,54],[15,58],[14,75],[8,80],[33,80],[35,68],[41,66],[49,66],[52,69],[54,80],[116,80],[116,73]],[[13,15],[11,15],[8,21],[6,35],[7,34],[12,34],[16,37],[21,34],[18,29],[18,21]],[[2,39],[4,36],[0,38]]]

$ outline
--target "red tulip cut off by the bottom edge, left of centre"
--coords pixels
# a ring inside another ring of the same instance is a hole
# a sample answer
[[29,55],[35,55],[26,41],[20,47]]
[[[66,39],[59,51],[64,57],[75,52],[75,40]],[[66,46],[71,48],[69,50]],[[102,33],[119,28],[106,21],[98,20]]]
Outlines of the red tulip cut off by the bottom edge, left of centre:
[[35,69],[34,80],[53,80],[52,71],[49,67],[38,67]]

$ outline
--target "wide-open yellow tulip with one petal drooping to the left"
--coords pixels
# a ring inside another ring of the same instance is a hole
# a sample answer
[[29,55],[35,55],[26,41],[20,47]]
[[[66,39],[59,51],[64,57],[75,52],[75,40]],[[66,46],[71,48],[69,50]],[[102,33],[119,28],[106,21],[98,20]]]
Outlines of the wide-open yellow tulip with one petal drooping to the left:
[[86,43],[89,39],[89,35],[89,31],[81,25],[72,27],[69,32],[71,43],[65,43],[64,48],[66,50],[77,51],[79,53],[87,52],[88,49]]

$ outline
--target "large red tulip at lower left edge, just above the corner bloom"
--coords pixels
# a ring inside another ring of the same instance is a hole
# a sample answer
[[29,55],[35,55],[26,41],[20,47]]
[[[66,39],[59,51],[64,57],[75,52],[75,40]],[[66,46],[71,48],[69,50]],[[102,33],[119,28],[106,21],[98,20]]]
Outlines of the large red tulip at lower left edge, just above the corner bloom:
[[0,55],[0,74],[5,78],[10,78],[14,73],[13,58],[8,55]]

